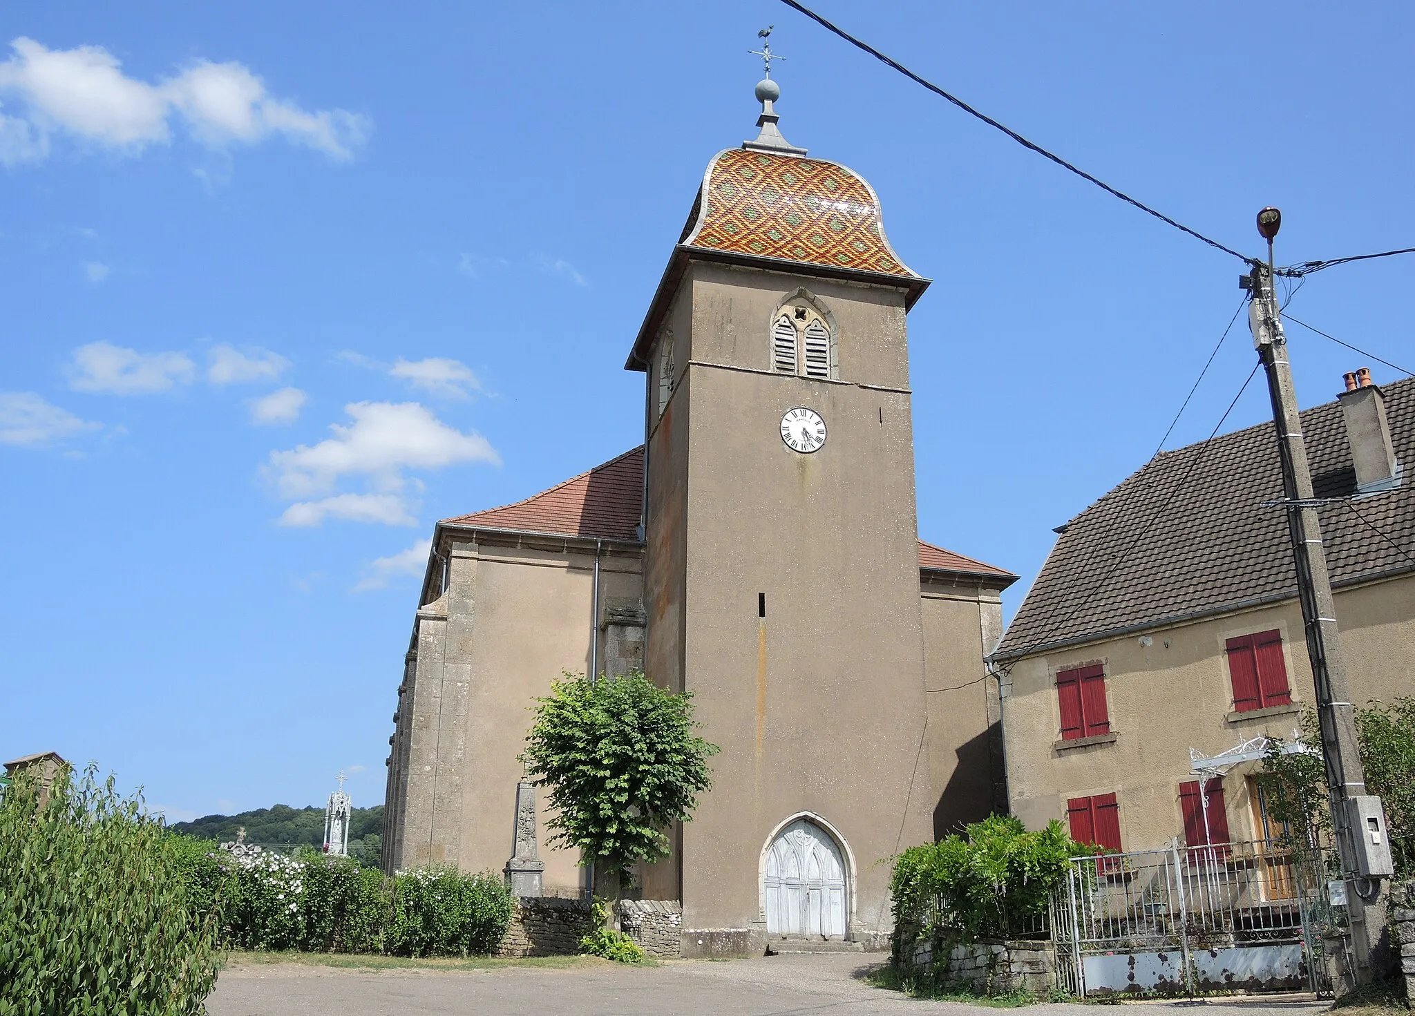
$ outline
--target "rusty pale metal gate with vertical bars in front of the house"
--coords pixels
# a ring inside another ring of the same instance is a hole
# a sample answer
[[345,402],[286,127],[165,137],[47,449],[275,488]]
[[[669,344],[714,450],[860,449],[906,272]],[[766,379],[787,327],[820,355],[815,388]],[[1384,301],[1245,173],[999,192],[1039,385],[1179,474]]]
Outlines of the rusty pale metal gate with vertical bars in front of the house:
[[1323,858],[1275,842],[1073,858],[1051,907],[1073,993],[1322,991]]

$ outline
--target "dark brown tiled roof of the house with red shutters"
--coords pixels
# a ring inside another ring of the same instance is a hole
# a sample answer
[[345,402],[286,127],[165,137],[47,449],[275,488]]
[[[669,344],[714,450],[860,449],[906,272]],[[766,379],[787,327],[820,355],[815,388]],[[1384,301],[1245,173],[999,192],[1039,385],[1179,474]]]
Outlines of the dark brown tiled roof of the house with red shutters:
[[[1409,560],[1415,556],[1415,378],[1381,391],[1407,477],[1397,491],[1320,509],[1337,587],[1415,569]],[[1316,497],[1354,494],[1341,406],[1327,402],[1303,412],[1302,433]],[[1295,597],[1283,511],[1259,507],[1282,495],[1271,423],[1215,437],[1207,450],[1200,443],[1155,456],[1067,524],[995,657]]]

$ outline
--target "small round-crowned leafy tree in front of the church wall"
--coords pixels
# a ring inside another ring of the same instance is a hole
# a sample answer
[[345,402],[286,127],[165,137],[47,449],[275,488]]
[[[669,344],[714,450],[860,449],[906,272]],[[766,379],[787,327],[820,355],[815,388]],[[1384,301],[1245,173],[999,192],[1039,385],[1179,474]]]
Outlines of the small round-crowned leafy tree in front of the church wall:
[[633,867],[668,856],[666,831],[688,822],[712,787],[708,758],[720,750],[696,734],[692,695],[642,674],[566,674],[538,699],[525,761],[549,787],[550,842],[574,848],[621,886]]

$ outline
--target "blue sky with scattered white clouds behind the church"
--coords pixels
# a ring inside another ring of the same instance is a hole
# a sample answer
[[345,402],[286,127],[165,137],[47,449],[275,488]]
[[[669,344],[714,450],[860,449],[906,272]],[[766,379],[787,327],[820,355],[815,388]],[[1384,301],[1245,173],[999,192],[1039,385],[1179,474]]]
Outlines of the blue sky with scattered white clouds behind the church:
[[[1009,613],[1240,306],[1237,260],[770,0],[391,10],[0,10],[4,757],[98,760],[174,818],[341,768],[381,801],[423,541],[638,443],[624,357],[708,158],[754,133],[768,23],[782,132],[935,280],[920,529],[1023,575]],[[1230,246],[1265,204],[1279,262],[1415,242],[1408,4],[819,10]],[[1409,362],[1412,267],[1289,310]],[[1368,364],[1289,331],[1303,405]],[[1170,446],[1251,358],[1240,321]],[[1255,382],[1230,429],[1265,413]]]

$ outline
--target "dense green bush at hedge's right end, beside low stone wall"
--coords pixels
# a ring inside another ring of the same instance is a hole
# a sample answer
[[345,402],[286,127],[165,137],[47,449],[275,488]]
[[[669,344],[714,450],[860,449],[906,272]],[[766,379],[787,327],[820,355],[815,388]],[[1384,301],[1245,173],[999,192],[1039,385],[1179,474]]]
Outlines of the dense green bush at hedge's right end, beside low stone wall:
[[399,872],[383,947],[400,957],[491,952],[507,934],[512,907],[511,891],[492,874],[454,867]]

